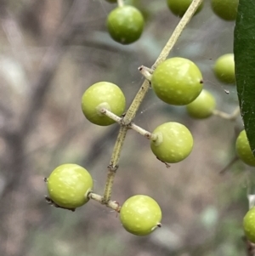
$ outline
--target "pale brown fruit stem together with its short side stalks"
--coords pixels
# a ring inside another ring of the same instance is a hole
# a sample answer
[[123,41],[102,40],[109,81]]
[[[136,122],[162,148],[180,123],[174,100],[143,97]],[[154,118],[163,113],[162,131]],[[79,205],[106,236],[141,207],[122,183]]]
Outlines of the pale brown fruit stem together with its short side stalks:
[[[170,51],[172,50],[175,43],[177,42],[178,37],[184,31],[184,28],[188,25],[191,18],[195,14],[195,11],[199,8],[199,6],[202,2],[203,2],[203,0],[193,0],[193,2],[190,3],[189,9],[187,9],[186,13],[182,17],[182,19],[179,21],[178,25],[176,26],[176,28],[173,31],[173,34],[167,41],[165,47],[161,50],[161,54],[159,54],[155,63],[151,66],[150,69],[145,68],[145,70],[147,69],[147,71],[149,70],[150,72],[153,72],[156,69],[156,67],[161,64],[161,62],[163,62],[164,60],[167,59],[167,56],[170,53]],[[122,4],[123,4],[122,0],[118,0],[118,4],[119,4],[119,6],[122,6]],[[144,74],[144,71],[142,71],[142,74]],[[147,72],[147,74],[148,74],[148,72]],[[146,78],[146,76],[145,76],[145,78]],[[111,154],[110,164],[107,168],[107,179],[106,179],[106,183],[105,183],[104,196],[99,196],[93,192],[88,194],[89,198],[91,198],[97,202],[100,202],[101,204],[104,204],[106,207],[112,208],[112,209],[116,210],[117,212],[120,211],[120,206],[117,202],[111,201],[111,191],[112,191],[112,186],[113,186],[113,182],[114,182],[115,175],[116,175],[116,170],[119,167],[119,159],[121,156],[122,146],[123,146],[124,140],[126,138],[127,130],[129,128],[133,128],[133,129],[135,129],[134,127],[137,128],[137,126],[135,126],[132,122],[133,122],[133,119],[134,119],[137,111],[139,110],[139,106],[141,105],[142,101],[144,100],[144,96],[148,92],[149,88],[150,88],[150,81],[148,79],[144,79],[142,86],[139,88],[138,93],[135,95],[133,102],[127,109],[127,112],[125,113],[124,117],[119,117],[120,119],[116,120],[117,122],[119,122],[121,128],[117,135],[116,143],[114,145],[114,148],[113,148],[113,151]],[[102,113],[107,115],[109,112],[107,113],[107,111],[102,110]],[[112,119],[115,118],[114,116],[111,116],[111,114],[108,115],[108,117],[111,117]],[[150,134],[149,132],[142,131],[141,129],[139,129],[139,131],[141,131],[141,134],[143,134],[143,133]]]

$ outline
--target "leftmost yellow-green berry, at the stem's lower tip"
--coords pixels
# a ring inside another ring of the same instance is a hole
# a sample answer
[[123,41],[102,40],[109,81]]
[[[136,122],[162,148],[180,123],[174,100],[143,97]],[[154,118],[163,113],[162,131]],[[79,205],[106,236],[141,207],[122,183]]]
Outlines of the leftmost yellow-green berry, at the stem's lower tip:
[[85,168],[66,163],[55,168],[47,180],[48,195],[62,208],[78,208],[88,202],[93,179]]

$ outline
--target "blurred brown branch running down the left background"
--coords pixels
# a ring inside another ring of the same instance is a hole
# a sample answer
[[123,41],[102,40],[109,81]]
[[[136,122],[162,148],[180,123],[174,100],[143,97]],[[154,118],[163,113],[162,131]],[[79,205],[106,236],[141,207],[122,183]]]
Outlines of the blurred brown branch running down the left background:
[[[2,195],[8,196],[3,196],[1,200],[0,255],[26,255],[27,211],[30,204],[26,199],[26,194],[30,191],[28,184],[30,169],[25,157],[26,138],[37,122],[39,111],[42,109],[50,82],[62,56],[63,46],[73,35],[74,27],[71,25],[79,9],[79,3],[82,3],[82,0],[73,2],[58,34],[42,58],[40,71],[30,85],[31,94],[20,126],[12,129],[10,123],[6,122],[2,128],[7,144],[5,162],[2,166],[6,185]],[[3,14],[3,9],[1,13]],[[5,14],[8,14],[7,10]]]

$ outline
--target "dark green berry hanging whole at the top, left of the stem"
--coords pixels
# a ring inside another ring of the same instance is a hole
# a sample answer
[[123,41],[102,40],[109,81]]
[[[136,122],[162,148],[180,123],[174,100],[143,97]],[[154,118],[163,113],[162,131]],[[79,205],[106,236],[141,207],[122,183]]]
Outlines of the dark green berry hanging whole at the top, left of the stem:
[[108,15],[107,28],[116,42],[134,43],[144,30],[144,18],[139,9],[124,5],[113,9]]

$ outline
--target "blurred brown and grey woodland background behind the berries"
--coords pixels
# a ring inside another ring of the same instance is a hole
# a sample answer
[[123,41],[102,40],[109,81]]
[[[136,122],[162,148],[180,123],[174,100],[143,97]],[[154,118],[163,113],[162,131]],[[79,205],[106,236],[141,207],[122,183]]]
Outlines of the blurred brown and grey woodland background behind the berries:
[[[43,182],[60,164],[77,163],[103,194],[118,125],[96,126],[83,117],[81,98],[94,82],[116,83],[127,105],[178,24],[165,0],[129,0],[145,18],[137,43],[122,46],[108,35],[105,20],[116,4],[104,0],[0,1],[0,255],[114,256],[246,255],[242,219],[248,209],[251,168],[235,162],[235,138],[242,128],[220,117],[193,120],[184,107],[166,105],[152,90],[134,122],[152,131],[163,122],[190,128],[194,150],[166,168],[150,141],[129,131],[112,200],[153,197],[162,227],[150,236],[127,233],[115,212],[98,202],[77,211],[48,206]],[[238,104],[235,86],[212,73],[214,61],[233,51],[235,23],[212,13],[209,0],[178,39],[171,56],[193,60],[218,110]],[[229,91],[229,94],[225,93]]]

